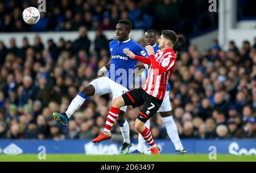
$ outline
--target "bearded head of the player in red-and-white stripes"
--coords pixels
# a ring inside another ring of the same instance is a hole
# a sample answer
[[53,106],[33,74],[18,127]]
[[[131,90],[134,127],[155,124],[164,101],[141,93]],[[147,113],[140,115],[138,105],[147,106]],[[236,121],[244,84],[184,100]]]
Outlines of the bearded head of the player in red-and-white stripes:
[[177,34],[171,30],[162,31],[162,35],[158,39],[159,49],[174,48],[177,41]]

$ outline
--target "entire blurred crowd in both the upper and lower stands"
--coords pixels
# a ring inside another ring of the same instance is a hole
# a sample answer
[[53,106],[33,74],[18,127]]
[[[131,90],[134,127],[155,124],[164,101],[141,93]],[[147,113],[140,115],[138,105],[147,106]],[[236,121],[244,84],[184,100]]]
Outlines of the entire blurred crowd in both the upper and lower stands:
[[[52,9],[42,13],[38,24],[28,26],[20,19],[27,1],[0,1],[1,32],[79,32],[73,42],[60,39],[55,43],[50,39],[48,45],[38,36],[34,43],[24,37],[22,47],[16,46],[15,39],[6,47],[0,39],[0,138],[97,137],[105,126],[111,95],[86,100],[68,126],[53,120],[52,112],[65,112],[82,86],[97,78],[98,69],[107,64],[110,55],[102,30],[114,29],[119,19],[129,18],[134,29],[152,28],[156,23],[154,27],[159,31],[168,26],[185,34],[212,26],[215,21],[212,14],[205,16],[189,10],[200,9],[195,7],[200,3],[165,0],[154,6],[148,5],[151,0],[120,2],[47,1],[51,4],[47,8]],[[164,10],[157,10],[163,6]],[[152,18],[152,11],[159,18]],[[168,18],[167,22],[165,16],[177,19]],[[175,26],[170,26],[172,23]],[[96,30],[91,52],[92,40],[88,39],[87,30]],[[144,46],[143,40],[139,43]],[[212,40],[204,52],[186,40],[181,51],[170,81],[171,105],[180,138],[256,138],[256,38],[254,44],[244,41],[241,48],[230,41],[227,51]],[[132,139],[138,138],[134,128],[138,111],[131,107],[126,111]],[[160,116],[150,121],[152,136],[167,138]],[[117,139],[122,138],[116,124],[113,133]]]

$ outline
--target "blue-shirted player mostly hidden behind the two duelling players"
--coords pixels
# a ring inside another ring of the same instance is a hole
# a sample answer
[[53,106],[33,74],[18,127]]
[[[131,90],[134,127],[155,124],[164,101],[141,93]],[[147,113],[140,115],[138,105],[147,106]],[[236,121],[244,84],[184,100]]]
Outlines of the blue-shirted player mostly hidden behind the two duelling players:
[[[177,58],[179,58],[179,56],[180,56],[180,45],[182,44],[182,42],[183,42],[182,38],[179,37],[179,39],[175,45],[176,50],[177,50],[177,53],[176,53]],[[156,51],[159,50],[159,47],[156,44],[156,33],[153,30],[148,30],[145,32],[144,43],[146,45],[151,45],[154,48],[155,53],[156,53]],[[147,69],[148,65],[147,64],[138,65],[137,68],[138,68],[137,70],[134,70],[135,75],[138,74],[138,71],[142,72],[142,69]],[[146,72],[146,76],[147,76],[148,71],[146,70],[145,72]],[[170,137],[172,143],[175,146],[176,154],[185,154],[185,153],[187,153],[187,151],[185,151],[183,145],[181,144],[179,134],[177,132],[177,126],[172,117],[173,112],[172,112],[171,102],[170,102],[170,90],[171,90],[171,86],[170,86],[170,83],[168,82],[167,83],[167,91],[166,91],[166,94],[164,95],[163,103],[162,103],[161,107],[159,108],[158,112],[159,112],[160,116],[162,117],[164,126],[166,126],[166,132],[167,132],[168,136]],[[150,129],[150,121],[149,120],[145,123],[145,126],[148,129]],[[145,148],[144,148],[146,146],[145,142],[146,141],[143,139],[141,134],[139,134],[137,149],[134,150],[132,153],[133,154],[145,153]]]

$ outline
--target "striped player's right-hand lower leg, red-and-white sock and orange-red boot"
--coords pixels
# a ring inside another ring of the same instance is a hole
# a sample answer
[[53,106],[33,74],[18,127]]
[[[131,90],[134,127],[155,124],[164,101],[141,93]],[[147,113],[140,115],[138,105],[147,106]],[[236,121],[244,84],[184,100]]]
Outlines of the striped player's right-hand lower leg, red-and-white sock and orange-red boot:
[[147,144],[150,145],[151,154],[159,154],[160,148],[155,144],[150,130],[146,128],[146,126],[144,126],[144,123],[141,120],[136,119],[135,128],[139,133],[141,133],[142,137],[147,142]]

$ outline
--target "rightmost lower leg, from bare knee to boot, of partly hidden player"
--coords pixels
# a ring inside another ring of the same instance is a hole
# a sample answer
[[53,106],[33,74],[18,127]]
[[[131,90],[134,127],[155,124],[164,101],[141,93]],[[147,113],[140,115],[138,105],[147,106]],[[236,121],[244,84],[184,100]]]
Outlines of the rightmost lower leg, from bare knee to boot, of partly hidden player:
[[175,146],[175,150],[176,150],[175,153],[186,154],[187,151],[184,149],[183,145],[181,144],[179,133],[177,132],[177,126],[172,117],[172,111],[160,112],[160,115],[162,117],[164,126],[166,126],[166,132]]

